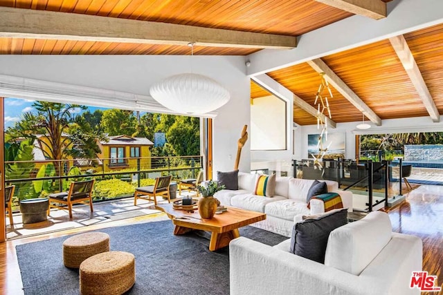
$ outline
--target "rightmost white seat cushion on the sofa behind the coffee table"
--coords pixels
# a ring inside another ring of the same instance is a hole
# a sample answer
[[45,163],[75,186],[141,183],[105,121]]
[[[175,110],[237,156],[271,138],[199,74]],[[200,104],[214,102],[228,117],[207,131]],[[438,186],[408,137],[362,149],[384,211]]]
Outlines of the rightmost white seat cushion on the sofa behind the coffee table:
[[294,216],[299,214],[308,215],[309,212],[310,210],[307,209],[304,202],[289,199],[271,202],[264,207],[264,213],[266,213],[266,215],[286,220],[293,220]]

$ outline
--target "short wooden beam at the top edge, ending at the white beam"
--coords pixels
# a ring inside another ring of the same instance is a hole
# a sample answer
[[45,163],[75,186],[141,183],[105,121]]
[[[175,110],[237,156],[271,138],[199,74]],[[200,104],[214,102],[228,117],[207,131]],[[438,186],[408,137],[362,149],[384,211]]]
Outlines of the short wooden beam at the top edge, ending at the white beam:
[[384,19],[386,17],[386,3],[381,0],[316,0],[329,6],[363,15],[371,19]]

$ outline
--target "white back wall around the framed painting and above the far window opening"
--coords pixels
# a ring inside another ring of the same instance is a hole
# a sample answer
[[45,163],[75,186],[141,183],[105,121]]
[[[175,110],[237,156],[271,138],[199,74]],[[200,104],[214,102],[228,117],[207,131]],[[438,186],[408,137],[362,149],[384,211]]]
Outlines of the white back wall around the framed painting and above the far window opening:
[[[334,118],[332,118],[334,120]],[[443,116],[439,123],[433,123],[430,117],[415,117],[406,119],[382,120],[381,126],[374,126],[365,131],[356,129],[356,125],[361,122],[338,123],[336,129],[328,129],[328,133],[346,133],[345,158],[355,159],[355,135],[356,134],[382,134],[382,133],[415,133],[415,132],[433,132],[443,131]],[[370,123],[370,122],[369,122]],[[316,125],[300,126],[296,129],[296,153],[295,160],[307,159],[307,135],[316,134],[318,129]]]

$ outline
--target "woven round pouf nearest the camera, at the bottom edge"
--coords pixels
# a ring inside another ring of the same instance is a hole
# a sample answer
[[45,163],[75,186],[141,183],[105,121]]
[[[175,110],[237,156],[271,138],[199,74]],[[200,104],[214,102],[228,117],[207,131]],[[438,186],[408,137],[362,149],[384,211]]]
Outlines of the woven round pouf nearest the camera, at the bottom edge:
[[120,295],[135,282],[136,260],[127,252],[103,252],[80,265],[80,294],[83,295]]

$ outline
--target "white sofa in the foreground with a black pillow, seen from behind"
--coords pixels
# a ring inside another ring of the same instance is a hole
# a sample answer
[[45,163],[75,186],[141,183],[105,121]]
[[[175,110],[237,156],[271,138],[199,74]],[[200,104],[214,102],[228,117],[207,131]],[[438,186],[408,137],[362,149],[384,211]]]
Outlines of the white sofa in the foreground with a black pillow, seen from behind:
[[244,237],[232,240],[230,295],[420,294],[409,286],[412,272],[422,270],[422,240],[392,233],[384,212],[334,229],[324,265],[291,254],[290,242],[271,247]]

